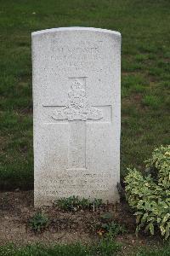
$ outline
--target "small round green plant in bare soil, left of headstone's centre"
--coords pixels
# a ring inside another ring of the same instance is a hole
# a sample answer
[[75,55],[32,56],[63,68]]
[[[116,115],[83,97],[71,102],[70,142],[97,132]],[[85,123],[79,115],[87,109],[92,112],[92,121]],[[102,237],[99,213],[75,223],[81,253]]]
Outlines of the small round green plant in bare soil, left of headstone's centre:
[[34,216],[29,221],[31,230],[34,230],[35,232],[40,232],[43,229],[47,228],[48,224],[49,224],[48,217],[42,214],[42,212],[35,213]]

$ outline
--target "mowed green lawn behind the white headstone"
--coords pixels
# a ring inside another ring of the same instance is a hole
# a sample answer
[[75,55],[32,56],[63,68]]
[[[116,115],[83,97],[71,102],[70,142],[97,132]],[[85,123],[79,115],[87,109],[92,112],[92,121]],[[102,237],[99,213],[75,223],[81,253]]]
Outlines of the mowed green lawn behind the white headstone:
[[122,33],[122,179],[170,143],[170,1],[0,1],[0,189],[33,188],[31,32],[94,26]]

